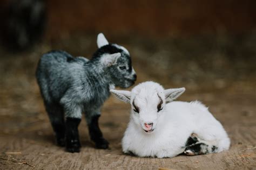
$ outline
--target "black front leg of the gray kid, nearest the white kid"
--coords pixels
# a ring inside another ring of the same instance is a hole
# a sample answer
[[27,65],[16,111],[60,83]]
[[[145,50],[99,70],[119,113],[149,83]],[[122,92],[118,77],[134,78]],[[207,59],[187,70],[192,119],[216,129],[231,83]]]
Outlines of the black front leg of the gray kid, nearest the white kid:
[[89,126],[89,134],[91,140],[95,142],[96,148],[106,149],[109,147],[109,142],[103,138],[102,131],[99,129],[99,117],[100,115],[93,115],[87,118],[87,124]]

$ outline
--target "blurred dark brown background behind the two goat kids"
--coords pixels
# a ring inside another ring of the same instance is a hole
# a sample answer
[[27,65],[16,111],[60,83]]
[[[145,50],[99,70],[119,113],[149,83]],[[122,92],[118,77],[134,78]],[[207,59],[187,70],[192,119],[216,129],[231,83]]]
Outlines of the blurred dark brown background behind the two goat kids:
[[[186,87],[180,100],[211,105],[234,140],[232,129],[241,125],[255,131],[255,6],[253,0],[0,1],[0,135],[9,137],[6,142],[19,134],[53,143],[35,80],[37,62],[51,49],[91,58],[99,32],[130,51],[136,84]],[[128,110],[113,97],[104,105],[101,126],[113,146]],[[82,140],[89,143],[84,126]]]

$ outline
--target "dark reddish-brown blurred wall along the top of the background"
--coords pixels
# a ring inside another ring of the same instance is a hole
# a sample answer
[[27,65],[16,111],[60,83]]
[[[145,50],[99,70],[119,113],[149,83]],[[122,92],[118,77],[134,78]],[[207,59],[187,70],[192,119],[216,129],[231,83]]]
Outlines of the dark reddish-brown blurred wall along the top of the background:
[[[10,0],[0,1],[1,10]],[[256,1],[46,0],[46,36],[83,32],[184,36],[255,30]],[[2,15],[3,16],[3,15]]]

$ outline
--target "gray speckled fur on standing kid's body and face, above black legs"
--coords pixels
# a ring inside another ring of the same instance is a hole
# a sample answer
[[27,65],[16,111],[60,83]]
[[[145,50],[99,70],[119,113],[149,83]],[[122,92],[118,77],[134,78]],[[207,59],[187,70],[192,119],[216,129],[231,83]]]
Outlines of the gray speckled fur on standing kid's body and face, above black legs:
[[[113,53],[121,56],[106,66],[102,57]],[[73,58],[64,51],[45,53],[39,60],[36,77],[52,124],[63,124],[64,117],[80,119],[82,112],[90,124],[93,116],[100,115],[111,87],[127,88],[136,81],[130,54],[113,44],[100,47],[91,60]]]

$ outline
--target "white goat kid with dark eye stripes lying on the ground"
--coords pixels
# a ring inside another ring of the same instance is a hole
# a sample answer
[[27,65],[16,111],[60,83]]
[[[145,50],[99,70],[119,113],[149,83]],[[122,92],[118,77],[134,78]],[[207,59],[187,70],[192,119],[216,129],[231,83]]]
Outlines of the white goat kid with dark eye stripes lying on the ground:
[[200,102],[173,102],[185,88],[164,90],[144,82],[132,91],[110,90],[130,102],[131,119],[122,140],[123,152],[139,157],[174,157],[228,150],[230,139],[223,126]]

